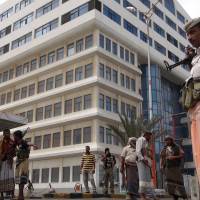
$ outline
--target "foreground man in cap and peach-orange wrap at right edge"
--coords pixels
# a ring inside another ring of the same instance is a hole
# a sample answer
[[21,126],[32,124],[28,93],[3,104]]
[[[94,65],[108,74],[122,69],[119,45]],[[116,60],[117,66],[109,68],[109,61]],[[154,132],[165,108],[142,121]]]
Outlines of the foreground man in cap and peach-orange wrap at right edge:
[[196,49],[196,56],[192,60],[191,77],[194,82],[194,91],[197,92],[196,101],[189,109],[191,120],[191,138],[193,157],[196,165],[197,175],[200,183],[200,17],[193,19],[185,26],[187,37],[192,46]]

